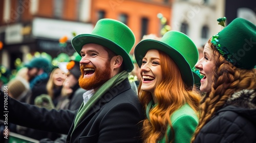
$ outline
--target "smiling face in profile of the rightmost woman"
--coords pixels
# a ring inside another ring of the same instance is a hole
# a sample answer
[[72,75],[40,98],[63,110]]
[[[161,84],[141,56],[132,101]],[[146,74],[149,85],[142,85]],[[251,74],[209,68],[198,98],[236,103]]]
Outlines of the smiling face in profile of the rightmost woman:
[[201,58],[197,64],[196,68],[200,70],[200,74],[204,75],[201,79],[200,90],[203,92],[210,92],[212,85],[212,76],[214,75],[212,69],[215,67],[215,58],[213,51],[208,43],[204,46],[203,58]]

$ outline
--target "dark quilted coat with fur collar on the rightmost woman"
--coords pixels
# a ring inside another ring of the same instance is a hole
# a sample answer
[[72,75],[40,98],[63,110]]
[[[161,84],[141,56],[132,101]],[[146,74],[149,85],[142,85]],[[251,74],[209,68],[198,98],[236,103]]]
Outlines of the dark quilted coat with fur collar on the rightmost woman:
[[256,91],[242,90],[232,94],[224,108],[201,129],[198,142],[256,142]]

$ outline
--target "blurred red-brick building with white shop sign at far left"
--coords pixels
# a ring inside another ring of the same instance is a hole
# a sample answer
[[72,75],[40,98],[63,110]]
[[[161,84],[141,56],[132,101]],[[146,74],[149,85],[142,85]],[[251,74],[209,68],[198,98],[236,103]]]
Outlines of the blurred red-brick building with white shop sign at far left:
[[[0,64],[15,69],[15,60],[27,62],[29,53],[46,52],[56,57],[59,53],[72,55],[70,44],[73,33],[91,33],[91,1],[4,0],[0,1]],[[84,5],[86,11],[77,10]],[[68,37],[67,46],[59,39]]]

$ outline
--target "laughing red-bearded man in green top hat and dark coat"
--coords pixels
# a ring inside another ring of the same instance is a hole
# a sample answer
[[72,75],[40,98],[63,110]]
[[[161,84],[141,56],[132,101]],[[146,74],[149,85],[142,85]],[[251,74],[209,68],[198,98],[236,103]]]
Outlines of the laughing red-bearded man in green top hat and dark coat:
[[[80,108],[48,111],[8,98],[8,122],[68,134],[66,142],[141,142],[144,114],[127,78],[134,43],[133,32],[120,21],[99,20],[91,34],[72,39],[81,56],[79,85],[88,90]],[[4,103],[3,92],[0,97]]]

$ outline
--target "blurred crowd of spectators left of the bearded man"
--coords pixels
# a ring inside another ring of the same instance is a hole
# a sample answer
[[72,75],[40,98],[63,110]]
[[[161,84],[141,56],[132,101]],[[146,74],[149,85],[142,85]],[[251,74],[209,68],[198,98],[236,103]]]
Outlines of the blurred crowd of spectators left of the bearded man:
[[[49,110],[78,109],[82,103],[80,95],[86,92],[78,85],[81,57],[77,53],[72,56],[60,53],[53,60],[49,57],[50,55],[46,53],[37,54],[29,62],[21,63],[13,70],[1,65],[1,89],[7,87],[8,96],[20,102]],[[54,140],[61,136],[14,124],[9,126],[9,130],[37,140],[42,138]]]

